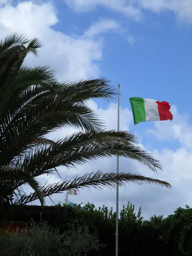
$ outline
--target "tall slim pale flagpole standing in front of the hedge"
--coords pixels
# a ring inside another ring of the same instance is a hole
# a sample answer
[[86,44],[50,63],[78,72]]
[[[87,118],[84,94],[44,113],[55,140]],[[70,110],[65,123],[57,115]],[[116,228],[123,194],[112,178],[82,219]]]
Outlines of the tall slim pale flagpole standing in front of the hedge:
[[[119,91],[118,84],[118,109],[117,109],[117,131],[119,131]],[[119,174],[119,156],[116,157],[116,173]],[[119,236],[119,184],[116,184],[116,242],[115,242],[115,256],[118,256],[118,236]]]

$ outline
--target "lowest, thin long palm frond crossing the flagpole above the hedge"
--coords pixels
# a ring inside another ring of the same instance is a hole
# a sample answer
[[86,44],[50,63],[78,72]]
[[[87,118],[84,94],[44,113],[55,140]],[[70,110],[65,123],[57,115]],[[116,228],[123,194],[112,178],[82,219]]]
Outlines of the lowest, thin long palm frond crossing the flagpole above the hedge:
[[[46,187],[43,187],[41,192],[44,197],[62,193],[69,189],[80,189],[80,188],[90,188],[94,187],[96,189],[102,189],[107,186],[109,188],[115,188],[118,183],[119,186],[125,185],[126,182],[131,182],[138,185],[143,184],[156,184],[162,187],[171,188],[171,185],[165,181],[148,178],[141,175],[131,174],[131,173],[106,173],[96,172],[95,174],[85,174],[82,177],[75,177],[73,179],[65,179],[62,182],[49,184]],[[31,193],[30,195],[25,195],[22,198],[15,201],[15,204],[28,204],[31,201],[38,199],[36,192]]]

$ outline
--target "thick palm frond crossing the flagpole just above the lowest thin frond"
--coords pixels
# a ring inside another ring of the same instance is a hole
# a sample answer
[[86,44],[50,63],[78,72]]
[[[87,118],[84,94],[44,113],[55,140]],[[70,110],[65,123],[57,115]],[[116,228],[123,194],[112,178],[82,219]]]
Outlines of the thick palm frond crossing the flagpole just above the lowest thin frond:
[[[54,145],[42,146],[31,154],[26,154],[20,168],[25,166],[38,176],[58,166],[70,167],[89,160],[119,156],[137,160],[153,171],[161,170],[160,162],[147,151],[135,146],[135,140],[134,135],[127,131],[106,131],[96,134],[80,132]],[[40,163],[41,169],[38,168]]]

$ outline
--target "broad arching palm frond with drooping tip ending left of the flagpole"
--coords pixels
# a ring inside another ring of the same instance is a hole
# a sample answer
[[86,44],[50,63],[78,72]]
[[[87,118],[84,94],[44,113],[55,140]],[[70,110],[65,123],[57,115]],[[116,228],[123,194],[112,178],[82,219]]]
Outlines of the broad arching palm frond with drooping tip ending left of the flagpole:
[[[23,94],[12,104],[12,111],[2,118],[0,148],[11,152],[10,157],[17,156],[35,138],[42,137],[61,127],[73,126],[96,132],[103,129],[96,114],[81,103],[58,101],[57,97],[43,98],[42,87],[35,87]],[[41,94],[39,96],[39,93]],[[40,100],[38,98],[40,97]],[[29,102],[26,102],[27,99]],[[18,107],[16,107],[18,105]],[[5,140],[6,139],[6,140]],[[6,164],[3,162],[2,164]]]

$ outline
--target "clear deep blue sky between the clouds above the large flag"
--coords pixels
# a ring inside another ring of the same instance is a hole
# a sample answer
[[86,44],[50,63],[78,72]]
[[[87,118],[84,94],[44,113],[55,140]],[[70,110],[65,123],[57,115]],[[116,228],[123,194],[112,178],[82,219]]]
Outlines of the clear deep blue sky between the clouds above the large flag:
[[[173,12],[143,12],[143,21],[97,7],[91,12],[74,12],[64,3],[56,4],[60,22],[54,26],[65,34],[81,35],[92,23],[116,19],[122,31],[105,33],[100,76],[121,86],[121,106],[128,98],[140,96],[165,100],[189,113],[192,94],[192,26],[178,21]],[[128,43],[129,36],[135,39]],[[103,107],[107,102],[99,102]],[[142,124],[142,127],[150,124]]]

